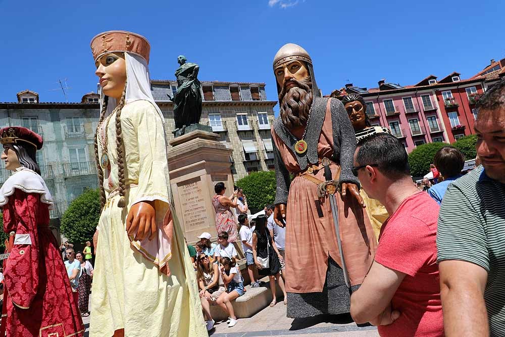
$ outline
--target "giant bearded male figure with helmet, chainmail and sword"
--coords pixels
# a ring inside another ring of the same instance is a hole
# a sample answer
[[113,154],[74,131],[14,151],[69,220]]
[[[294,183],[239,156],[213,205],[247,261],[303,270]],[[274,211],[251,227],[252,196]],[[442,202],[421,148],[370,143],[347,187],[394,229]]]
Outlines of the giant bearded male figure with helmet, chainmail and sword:
[[[286,225],[287,316],[349,312],[349,293],[363,282],[376,248],[359,181],[352,174],[354,129],[339,100],[321,97],[311,57],[302,47],[284,45],[273,68],[280,103],[280,117],[272,126],[274,218]],[[318,186],[326,180],[323,158],[330,160],[332,179],[339,181],[341,197],[337,193],[335,199],[346,270],[329,197],[318,197]]]

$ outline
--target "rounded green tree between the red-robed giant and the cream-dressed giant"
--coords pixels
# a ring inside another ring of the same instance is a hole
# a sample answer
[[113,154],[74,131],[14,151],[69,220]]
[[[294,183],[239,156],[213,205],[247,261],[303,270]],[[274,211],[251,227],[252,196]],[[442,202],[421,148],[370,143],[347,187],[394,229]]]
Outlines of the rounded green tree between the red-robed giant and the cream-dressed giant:
[[100,193],[88,188],[70,203],[60,229],[70,242],[83,244],[92,239],[99,218]]

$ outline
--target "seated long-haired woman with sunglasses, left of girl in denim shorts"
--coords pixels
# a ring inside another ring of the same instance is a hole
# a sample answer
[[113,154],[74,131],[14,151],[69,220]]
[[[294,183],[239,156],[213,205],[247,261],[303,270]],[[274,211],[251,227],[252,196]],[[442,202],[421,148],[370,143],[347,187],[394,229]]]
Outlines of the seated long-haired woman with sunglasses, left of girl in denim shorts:
[[205,253],[200,253],[196,258],[196,279],[200,289],[200,301],[207,323],[207,331],[210,331],[215,323],[212,319],[210,306],[217,304],[216,300],[226,289],[223,286],[218,264],[211,263],[209,256]]

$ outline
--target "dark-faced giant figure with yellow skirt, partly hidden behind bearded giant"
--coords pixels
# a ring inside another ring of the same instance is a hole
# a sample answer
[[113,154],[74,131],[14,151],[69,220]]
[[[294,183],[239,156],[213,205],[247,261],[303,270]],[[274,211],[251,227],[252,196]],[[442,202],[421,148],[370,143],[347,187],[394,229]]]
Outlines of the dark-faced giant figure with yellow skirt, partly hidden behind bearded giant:
[[[376,133],[390,133],[385,127],[372,126],[370,124],[370,119],[367,115],[367,104],[359,94],[350,93],[346,95],[342,99],[342,103],[347,111],[352,128],[354,128],[356,133],[356,141],[360,141]],[[358,170],[362,168],[363,167],[355,167],[352,169],[352,173],[357,177]],[[363,188],[360,190],[360,195],[366,205],[365,210],[368,218],[370,219],[370,223],[372,224],[372,228],[374,229],[375,238],[378,240],[380,227],[382,226],[382,223],[386,221],[389,214],[387,213],[384,205],[375,199],[370,199]]]

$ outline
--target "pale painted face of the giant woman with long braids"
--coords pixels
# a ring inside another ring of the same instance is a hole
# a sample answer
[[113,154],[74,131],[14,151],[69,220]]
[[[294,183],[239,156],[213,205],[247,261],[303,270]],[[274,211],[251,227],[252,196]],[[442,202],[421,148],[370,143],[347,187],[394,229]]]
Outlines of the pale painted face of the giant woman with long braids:
[[95,74],[102,90],[109,97],[119,100],[126,84],[126,60],[123,53],[109,53],[95,63]]

